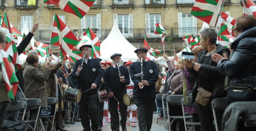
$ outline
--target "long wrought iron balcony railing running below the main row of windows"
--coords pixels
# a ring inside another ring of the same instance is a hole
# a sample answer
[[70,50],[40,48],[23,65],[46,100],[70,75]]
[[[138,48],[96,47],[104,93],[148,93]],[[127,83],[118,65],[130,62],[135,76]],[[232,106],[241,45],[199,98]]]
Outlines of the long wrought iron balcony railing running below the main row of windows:
[[[186,35],[195,37],[201,28],[166,28],[166,38],[181,38]],[[74,35],[81,36],[85,30],[73,30]],[[99,39],[106,39],[111,29],[93,30]],[[162,35],[154,34],[155,29],[126,29],[120,30],[126,39],[143,39],[145,31],[150,38],[161,38]],[[36,30],[34,33],[36,40],[47,41],[51,39],[52,30]]]

